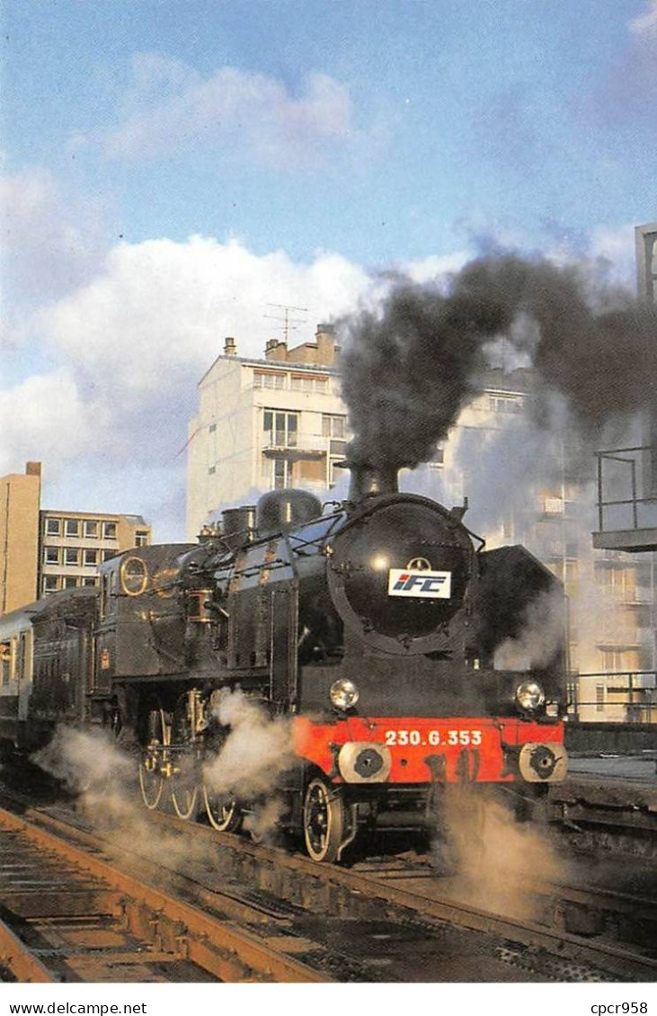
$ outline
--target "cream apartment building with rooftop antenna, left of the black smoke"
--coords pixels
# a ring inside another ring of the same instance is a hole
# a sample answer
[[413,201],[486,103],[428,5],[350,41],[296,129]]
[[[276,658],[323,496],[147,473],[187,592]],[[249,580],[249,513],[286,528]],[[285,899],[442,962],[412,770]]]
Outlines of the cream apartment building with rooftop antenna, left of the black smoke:
[[330,325],[293,348],[277,339],[264,357],[238,356],[226,338],[199,383],[189,425],[187,536],[217,508],[258,492],[303,487],[323,493],[339,477],[347,434]]

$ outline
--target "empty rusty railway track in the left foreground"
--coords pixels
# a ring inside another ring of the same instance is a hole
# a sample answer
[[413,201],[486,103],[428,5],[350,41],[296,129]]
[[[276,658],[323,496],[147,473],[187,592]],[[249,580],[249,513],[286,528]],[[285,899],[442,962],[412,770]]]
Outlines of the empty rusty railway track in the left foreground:
[[[314,981],[225,915],[0,810],[0,963],[24,981]],[[96,846],[97,851],[97,846]],[[321,978],[326,979],[326,978]]]

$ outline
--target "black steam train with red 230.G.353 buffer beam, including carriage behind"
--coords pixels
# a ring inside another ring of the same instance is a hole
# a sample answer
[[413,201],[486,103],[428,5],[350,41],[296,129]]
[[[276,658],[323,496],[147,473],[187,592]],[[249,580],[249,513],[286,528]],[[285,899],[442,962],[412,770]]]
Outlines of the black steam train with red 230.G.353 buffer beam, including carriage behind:
[[288,724],[279,823],[317,862],[421,827],[451,784],[539,801],[566,774],[565,638],[539,668],[496,654],[528,604],[563,592],[462,516],[352,463],[348,499],[324,510],[272,491],[197,545],[128,551],[100,589],[0,618],[0,736],[29,750],[56,723],[105,725],[138,751],[146,808],[235,830],[257,802],[206,773],[240,689]]

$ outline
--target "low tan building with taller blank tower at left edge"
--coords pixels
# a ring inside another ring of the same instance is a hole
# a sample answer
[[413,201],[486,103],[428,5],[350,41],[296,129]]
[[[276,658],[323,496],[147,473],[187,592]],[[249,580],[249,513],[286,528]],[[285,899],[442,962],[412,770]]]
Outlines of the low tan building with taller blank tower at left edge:
[[0,479],[0,614],[40,596],[96,585],[109,558],[151,543],[141,515],[41,507],[41,462]]

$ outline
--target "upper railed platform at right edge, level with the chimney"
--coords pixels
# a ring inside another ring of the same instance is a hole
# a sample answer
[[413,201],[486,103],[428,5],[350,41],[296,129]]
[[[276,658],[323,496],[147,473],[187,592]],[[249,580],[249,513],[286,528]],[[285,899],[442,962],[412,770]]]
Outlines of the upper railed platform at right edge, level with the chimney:
[[657,551],[657,448],[615,448],[599,451],[596,457],[598,530],[593,547]]

